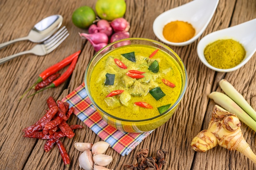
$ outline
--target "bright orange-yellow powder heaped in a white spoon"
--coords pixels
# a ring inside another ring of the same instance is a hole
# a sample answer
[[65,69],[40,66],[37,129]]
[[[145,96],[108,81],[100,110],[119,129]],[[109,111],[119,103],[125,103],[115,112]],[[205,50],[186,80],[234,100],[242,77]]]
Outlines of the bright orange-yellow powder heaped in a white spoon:
[[164,26],[163,36],[170,42],[185,42],[195,35],[193,26],[184,21],[169,22]]

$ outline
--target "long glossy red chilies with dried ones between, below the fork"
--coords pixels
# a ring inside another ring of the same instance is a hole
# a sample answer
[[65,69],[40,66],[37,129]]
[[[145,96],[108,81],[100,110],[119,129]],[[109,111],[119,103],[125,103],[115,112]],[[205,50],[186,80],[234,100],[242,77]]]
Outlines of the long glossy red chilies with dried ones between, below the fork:
[[[56,64],[52,65],[51,67],[45,69],[45,71],[43,71],[42,73],[39,74],[39,77],[38,77],[36,83],[34,83],[31,87],[29,87],[29,89],[27,89],[27,91],[24,94],[22,94],[19,101],[32,88],[35,88],[35,90],[38,91],[40,89],[45,89],[44,87],[46,87],[47,85],[51,86],[52,85],[51,83],[53,83],[54,81],[55,81],[54,87],[57,87],[58,85],[63,83],[72,74],[72,72],[74,70],[74,66],[76,65],[76,62],[77,62],[77,58],[78,58],[80,53],[81,53],[81,50],[79,50],[79,51],[75,52],[74,54],[71,54],[70,56],[64,58],[59,63],[56,63]],[[75,62],[74,62],[74,60],[75,60]],[[60,78],[58,78],[60,76],[60,74],[56,74],[56,72],[63,69],[67,65],[70,65],[70,63],[72,65],[72,67],[69,67],[69,69]],[[51,87],[48,87],[48,88],[51,88]],[[43,91],[43,90],[41,90],[41,91]]]

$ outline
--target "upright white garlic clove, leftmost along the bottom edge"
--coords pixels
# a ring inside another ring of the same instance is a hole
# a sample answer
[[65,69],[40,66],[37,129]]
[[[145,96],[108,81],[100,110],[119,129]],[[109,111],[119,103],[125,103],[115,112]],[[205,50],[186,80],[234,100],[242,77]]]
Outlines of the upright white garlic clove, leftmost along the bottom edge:
[[79,156],[79,167],[84,170],[93,170],[93,166],[92,152],[87,149]]

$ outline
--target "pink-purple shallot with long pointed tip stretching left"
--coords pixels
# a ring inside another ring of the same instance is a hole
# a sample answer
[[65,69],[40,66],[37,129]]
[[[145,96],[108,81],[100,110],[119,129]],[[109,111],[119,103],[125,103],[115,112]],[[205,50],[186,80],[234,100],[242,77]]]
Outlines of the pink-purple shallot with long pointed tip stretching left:
[[86,38],[87,40],[92,40],[94,44],[99,44],[99,43],[108,43],[108,36],[104,33],[97,32],[93,34],[85,34],[81,33],[80,36],[82,38]]

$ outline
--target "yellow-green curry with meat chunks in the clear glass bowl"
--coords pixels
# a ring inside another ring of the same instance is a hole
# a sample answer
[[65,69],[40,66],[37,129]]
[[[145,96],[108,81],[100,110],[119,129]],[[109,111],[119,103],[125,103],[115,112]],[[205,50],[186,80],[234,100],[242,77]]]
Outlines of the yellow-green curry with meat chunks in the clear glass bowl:
[[[122,56],[129,52],[135,52],[136,62],[132,62]],[[155,48],[145,45],[129,45],[119,47],[103,56],[92,70],[90,77],[90,92],[95,103],[109,114],[128,120],[149,119],[159,115],[157,107],[173,105],[181,93],[182,77],[177,62],[164,51],[159,50],[152,58],[150,54]],[[121,69],[114,59],[121,60],[128,68]],[[153,61],[159,63],[159,72],[153,73],[148,67]],[[126,75],[128,70],[145,72],[144,78],[131,78]],[[115,74],[114,85],[105,86],[106,74]],[[165,78],[175,87],[169,87],[162,82]],[[156,100],[149,90],[160,87],[165,96]],[[124,90],[123,93],[111,97],[115,99],[109,102],[106,96],[114,90]],[[153,106],[152,109],[135,105],[135,102],[146,102]]]

